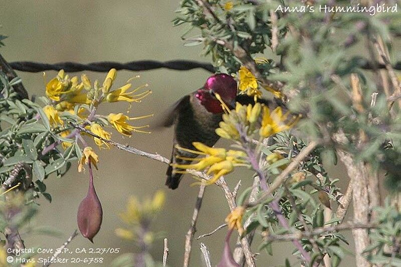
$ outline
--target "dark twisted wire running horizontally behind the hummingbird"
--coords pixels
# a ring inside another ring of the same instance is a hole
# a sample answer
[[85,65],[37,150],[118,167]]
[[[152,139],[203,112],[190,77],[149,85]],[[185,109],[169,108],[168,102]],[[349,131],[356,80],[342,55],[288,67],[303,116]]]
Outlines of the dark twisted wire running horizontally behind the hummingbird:
[[[364,70],[385,69],[383,64],[374,64],[365,59],[358,59],[356,65]],[[204,69],[208,72],[215,72],[212,64],[190,61],[190,60],[171,60],[171,61],[154,61],[154,60],[141,60],[131,61],[127,63],[119,63],[113,61],[93,62],[88,64],[81,64],[76,62],[61,62],[54,64],[46,64],[31,61],[17,61],[11,62],[10,66],[17,71],[23,72],[42,72],[42,71],[59,71],[64,69],[66,72],[81,72],[81,71],[94,71],[94,72],[108,72],[114,68],[116,70],[129,70],[129,71],[148,71],[160,68],[170,70],[187,71],[192,69]],[[401,62],[396,62],[393,65],[394,70],[401,70]]]

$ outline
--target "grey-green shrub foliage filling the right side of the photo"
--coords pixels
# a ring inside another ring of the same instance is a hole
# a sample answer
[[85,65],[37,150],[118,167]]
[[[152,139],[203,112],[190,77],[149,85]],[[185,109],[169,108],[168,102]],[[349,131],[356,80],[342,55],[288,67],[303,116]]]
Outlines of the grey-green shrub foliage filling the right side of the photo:
[[[394,57],[399,60],[399,46],[392,40],[399,37],[400,16],[391,12],[376,16],[360,12],[324,13],[317,11],[319,5],[331,4],[315,1],[309,5],[315,12],[284,13],[277,8],[301,9],[306,4],[183,0],[177,10],[179,17],[173,21],[175,26],[188,26],[182,36],[185,44],[203,44],[204,53],[212,56],[218,71],[239,77],[240,88],[240,67],[249,68],[253,64],[256,66],[256,70],[250,69],[253,75],[257,79],[263,77],[282,83],[283,87],[273,89],[287,96],[286,106],[290,112],[302,114],[296,130],[291,134],[279,133],[268,147],[260,148],[261,157],[266,157],[267,161],[263,174],[271,182],[306,147],[304,140],[319,140],[324,144],[304,158],[275,190],[274,196],[252,206],[243,217],[243,222],[251,219],[247,233],[261,229],[265,241],[259,248],[270,254],[274,236],[333,226],[342,220],[323,216],[324,206],[334,208],[331,206],[334,203],[334,206],[341,206],[338,200],[342,193],[336,186],[338,179],[330,178],[323,166],[323,161],[326,166],[337,164],[338,149],[352,155],[355,162],[369,165],[372,171],[384,170],[387,187],[394,193],[401,190],[400,110],[386,99],[389,95],[377,81],[377,70],[373,70],[376,72],[373,75],[366,70],[368,63],[377,64],[375,58],[385,54],[383,49],[388,50],[390,63]],[[346,1],[335,3],[338,7],[349,5]],[[272,18],[273,15],[277,18]],[[188,37],[191,31],[200,34]],[[277,38],[275,46],[273,37]],[[260,61],[258,57],[269,60]],[[398,92],[396,84],[399,83],[399,78],[394,81],[395,75],[392,78],[394,94]],[[259,88],[262,88],[261,82]],[[377,98],[374,93],[378,93]],[[234,129],[239,127],[234,125]],[[249,129],[246,125],[244,128]],[[236,146],[244,148],[244,142],[238,142],[238,138]],[[246,189],[239,196],[238,204],[248,203],[250,190]],[[279,223],[271,205],[274,199],[280,199],[280,208],[290,229]],[[398,266],[401,264],[399,245],[393,243],[399,243],[400,227],[396,222],[399,211],[391,206],[384,208],[390,209],[391,212],[379,209],[378,213],[386,215],[381,215],[378,229],[369,232],[372,248],[366,253],[374,263]],[[303,237],[300,241],[311,252],[313,260],[321,262],[328,254],[333,266],[344,257],[344,245],[348,243],[335,231]],[[392,254],[385,252],[388,246]],[[285,264],[289,266],[290,262],[286,260]]]

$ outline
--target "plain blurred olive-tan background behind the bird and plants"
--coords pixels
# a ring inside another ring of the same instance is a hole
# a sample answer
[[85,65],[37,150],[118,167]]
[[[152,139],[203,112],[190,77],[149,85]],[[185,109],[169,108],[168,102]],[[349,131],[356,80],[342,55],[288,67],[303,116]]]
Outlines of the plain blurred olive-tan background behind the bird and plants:
[[[179,1],[0,1],[1,33],[9,36],[5,40],[6,47],[1,48],[2,55],[9,62],[37,61],[56,63],[73,61],[89,63],[95,61],[128,62],[134,60],[167,61],[176,59],[209,61],[200,56],[202,47],[183,47],[180,36],[185,29],[173,28],[171,21]],[[106,74],[86,72],[91,80],[103,81]],[[80,75],[75,73],[74,75]],[[159,69],[141,73],[119,71],[115,86],[122,85],[134,75],[141,77],[133,82],[133,86],[149,84],[153,94],[142,103],[134,103],[130,116],[140,116],[154,113],[156,118],[181,96],[201,87],[210,75],[204,70],[170,71]],[[22,73],[30,96],[45,94],[45,82],[41,73]],[[47,72],[48,80],[56,72]],[[100,113],[118,113],[127,110],[126,103],[113,103],[101,106]],[[152,120],[140,121],[152,124]],[[135,133],[132,138],[121,138],[113,132],[112,139],[128,143],[130,146],[147,152],[159,153],[169,157],[171,153],[172,129],[155,131],[151,134]],[[91,141],[93,142],[93,141]],[[93,145],[93,143],[92,143]],[[219,146],[228,143],[219,141]],[[166,203],[158,214],[153,225],[155,231],[161,231],[162,237],[169,242],[170,266],[182,264],[185,233],[188,230],[198,187],[189,187],[194,182],[190,175],[185,175],[178,189],[167,190],[164,186],[167,166],[140,156],[135,156],[111,148],[96,150],[99,154],[99,170],[95,171],[95,186],[103,205],[103,224],[100,232],[94,238],[94,244],[82,236],[76,237],[69,245],[75,248],[120,247],[122,254],[135,252],[131,242],[117,237],[114,229],[123,226],[118,218],[118,212],[125,208],[130,195],[139,199],[152,196],[155,191],[164,189]],[[335,178],[340,178],[340,187],[345,188],[347,177],[339,177],[340,172],[330,168]],[[76,211],[88,187],[88,174],[78,173],[77,165],[61,179],[49,178],[46,182],[47,191],[52,194],[53,202],[41,199],[40,213],[32,225],[47,225],[63,232],[61,237],[43,235],[24,235],[27,247],[45,248],[59,247],[77,228]],[[231,188],[242,179],[241,190],[251,185],[251,174],[247,171],[235,172],[227,176]],[[222,190],[217,186],[209,186],[202,209],[200,210],[195,236],[210,232],[224,222],[229,213],[227,202]],[[349,215],[348,215],[349,216]],[[191,266],[200,266],[200,241],[211,251],[212,263],[218,263],[224,245],[227,230],[222,229],[209,237],[194,240],[191,256]],[[347,233],[350,236],[349,233]],[[234,238],[233,238],[234,240]],[[260,239],[253,243],[253,251],[260,252],[257,264],[259,266],[283,265],[294,247],[291,243],[273,245],[274,256],[268,256],[265,251],[258,251]],[[352,251],[352,244],[349,246]],[[155,260],[161,260],[163,240],[154,242],[150,250]],[[76,255],[78,256],[78,255]],[[101,266],[109,266],[116,257],[106,254]],[[353,265],[353,257],[349,255],[343,265]],[[75,264],[77,266],[79,264]],[[69,266],[69,264],[52,264],[52,266]]]

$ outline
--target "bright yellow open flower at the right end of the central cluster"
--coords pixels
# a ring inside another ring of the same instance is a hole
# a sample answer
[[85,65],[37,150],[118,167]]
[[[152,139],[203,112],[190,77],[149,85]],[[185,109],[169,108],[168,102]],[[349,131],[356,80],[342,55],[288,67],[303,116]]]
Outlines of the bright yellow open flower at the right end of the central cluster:
[[286,123],[289,112],[283,114],[281,107],[277,107],[270,113],[268,107],[263,107],[262,126],[259,130],[259,135],[262,137],[269,137],[276,133],[290,129],[298,119],[295,118],[289,123]]

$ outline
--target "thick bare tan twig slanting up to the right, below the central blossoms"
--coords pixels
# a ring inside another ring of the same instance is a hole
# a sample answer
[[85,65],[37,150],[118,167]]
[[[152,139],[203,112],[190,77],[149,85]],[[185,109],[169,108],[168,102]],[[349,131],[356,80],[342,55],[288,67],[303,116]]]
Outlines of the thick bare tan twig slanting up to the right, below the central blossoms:
[[247,207],[256,206],[263,201],[267,197],[269,197],[274,190],[276,190],[284,181],[287,179],[287,176],[302,162],[302,160],[310,154],[310,152],[315,149],[315,147],[319,144],[317,141],[311,141],[304,149],[299,152],[299,154],[288,164],[287,168],[285,168],[279,176],[276,177],[274,182],[270,184],[269,189],[266,192],[263,192],[262,195],[255,201],[248,203]]

